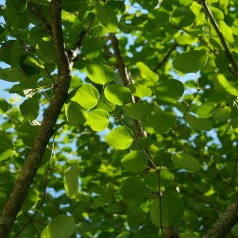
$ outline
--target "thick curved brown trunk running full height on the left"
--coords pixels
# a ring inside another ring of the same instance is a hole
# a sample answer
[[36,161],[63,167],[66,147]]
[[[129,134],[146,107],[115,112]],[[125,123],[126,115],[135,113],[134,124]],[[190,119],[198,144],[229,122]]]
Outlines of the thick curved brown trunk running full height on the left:
[[51,1],[52,37],[55,46],[56,59],[58,63],[58,86],[55,94],[44,113],[41,126],[32,145],[31,151],[26,158],[20,176],[6,202],[0,217],[0,237],[8,237],[14,220],[21,209],[27,196],[34,176],[40,167],[46,146],[52,136],[56,120],[61,108],[67,98],[67,92],[71,79],[71,68],[63,39],[61,28],[61,2]]

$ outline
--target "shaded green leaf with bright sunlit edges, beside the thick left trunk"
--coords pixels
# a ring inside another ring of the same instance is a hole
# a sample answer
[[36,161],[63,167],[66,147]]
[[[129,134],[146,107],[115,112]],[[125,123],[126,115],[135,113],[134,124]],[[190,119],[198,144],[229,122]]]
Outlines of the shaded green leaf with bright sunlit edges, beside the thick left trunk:
[[87,121],[88,114],[77,102],[65,104],[65,115],[70,125],[79,127]]

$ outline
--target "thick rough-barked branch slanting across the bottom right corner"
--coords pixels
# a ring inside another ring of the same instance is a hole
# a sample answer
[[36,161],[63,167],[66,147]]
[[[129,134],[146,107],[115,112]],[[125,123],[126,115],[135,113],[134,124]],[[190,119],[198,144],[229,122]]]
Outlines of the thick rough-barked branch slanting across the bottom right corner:
[[238,221],[238,199],[229,205],[203,238],[223,238]]

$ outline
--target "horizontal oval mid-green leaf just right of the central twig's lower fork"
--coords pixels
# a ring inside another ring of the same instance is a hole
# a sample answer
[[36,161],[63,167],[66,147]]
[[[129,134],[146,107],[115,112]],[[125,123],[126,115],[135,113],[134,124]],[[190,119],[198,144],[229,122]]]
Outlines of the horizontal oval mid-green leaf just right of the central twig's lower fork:
[[171,160],[176,169],[185,169],[195,172],[201,168],[201,164],[197,159],[184,153],[176,153],[172,155]]

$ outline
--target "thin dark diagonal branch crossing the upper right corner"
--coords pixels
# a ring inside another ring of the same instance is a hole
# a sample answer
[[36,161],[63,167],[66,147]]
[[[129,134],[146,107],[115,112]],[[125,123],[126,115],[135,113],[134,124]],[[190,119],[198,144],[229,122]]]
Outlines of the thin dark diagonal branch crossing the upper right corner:
[[217,33],[218,38],[220,39],[220,42],[221,42],[221,44],[222,44],[222,46],[224,48],[225,54],[226,54],[229,62],[232,65],[233,74],[238,79],[238,66],[237,66],[237,64],[236,64],[236,62],[235,62],[235,60],[234,60],[234,58],[233,58],[233,56],[232,56],[232,54],[231,54],[227,44],[226,44],[225,38],[224,38],[222,32],[220,31],[219,26],[218,26],[214,16],[212,15],[212,12],[210,11],[210,9],[209,9],[209,7],[207,5],[207,1],[206,0],[200,0],[200,2],[202,4],[202,6],[203,6],[203,9],[204,9],[204,12],[205,12],[206,16],[209,18],[212,26],[214,27],[214,29],[215,29],[215,31]]

